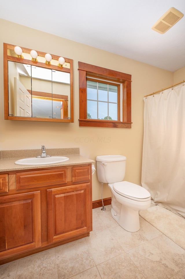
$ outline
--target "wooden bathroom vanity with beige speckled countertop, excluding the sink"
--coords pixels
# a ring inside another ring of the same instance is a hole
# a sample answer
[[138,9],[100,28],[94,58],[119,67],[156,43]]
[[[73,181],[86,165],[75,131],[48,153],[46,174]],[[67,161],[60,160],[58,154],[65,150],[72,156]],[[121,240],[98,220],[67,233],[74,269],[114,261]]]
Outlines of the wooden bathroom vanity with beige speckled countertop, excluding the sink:
[[1,151],[0,264],[83,238],[92,231],[95,162],[80,156],[78,148],[64,148],[48,149],[48,154],[65,155],[68,161],[21,166],[14,162],[26,151],[17,152],[15,158],[16,151]]

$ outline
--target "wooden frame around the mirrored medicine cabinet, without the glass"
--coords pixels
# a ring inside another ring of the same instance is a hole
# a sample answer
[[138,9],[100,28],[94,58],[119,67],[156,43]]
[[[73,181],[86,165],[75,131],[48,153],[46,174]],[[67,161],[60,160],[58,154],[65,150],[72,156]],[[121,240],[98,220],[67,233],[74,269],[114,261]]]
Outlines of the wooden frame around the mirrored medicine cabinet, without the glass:
[[[52,64],[46,64],[43,62],[32,61],[31,56],[29,59],[19,58],[15,56],[8,55],[8,49],[14,50],[15,45],[3,43],[3,66],[4,66],[4,119],[6,120],[21,120],[21,121],[44,121],[44,122],[74,122],[73,116],[73,60],[64,57],[65,62],[70,64],[70,68],[59,67]],[[23,53],[30,53],[31,49],[23,48]],[[37,50],[36,50],[37,51]],[[37,51],[38,56],[45,57],[45,52]],[[58,60],[60,56],[53,55],[52,60]],[[62,71],[65,73],[70,73],[70,112],[71,112],[71,119],[56,119],[56,118],[39,118],[39,117],[23,117],[23,116],[9,116],[9,105],[8,105],[8,61],[29,64],[33,66],[38,66],[42,68],[47,68],[51,70]]]

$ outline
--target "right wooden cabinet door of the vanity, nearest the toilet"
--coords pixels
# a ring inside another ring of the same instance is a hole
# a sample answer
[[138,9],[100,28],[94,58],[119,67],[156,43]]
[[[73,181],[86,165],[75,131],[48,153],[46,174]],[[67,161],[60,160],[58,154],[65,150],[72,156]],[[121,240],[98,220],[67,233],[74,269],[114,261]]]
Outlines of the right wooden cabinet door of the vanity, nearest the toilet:
[[47,190],[48,242],[90,231],[90,183]]

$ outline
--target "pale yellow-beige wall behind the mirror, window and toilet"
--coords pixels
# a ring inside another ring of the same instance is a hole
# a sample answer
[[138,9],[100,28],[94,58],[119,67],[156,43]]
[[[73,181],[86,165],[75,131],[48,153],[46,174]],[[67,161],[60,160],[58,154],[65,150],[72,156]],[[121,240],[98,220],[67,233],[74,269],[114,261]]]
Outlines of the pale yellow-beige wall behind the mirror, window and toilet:
[[[0,19],[1,73],[3,42],[73,59],[74,123],[4,120],[3,75],[0,75],[0,150],[38,149],[44,144],[46,148],[79,147],[81,155],[93,160],[97,155],[121,154],[127,157],[125,180],[141,185],[143,97],[173,84],[173,73]],[[79,127],[78,61],[132,75],[131,129]],[[96,173],[92,188],[92,200],[101,199],[101,183]],[[103,198],[110,196],[104,184]]]

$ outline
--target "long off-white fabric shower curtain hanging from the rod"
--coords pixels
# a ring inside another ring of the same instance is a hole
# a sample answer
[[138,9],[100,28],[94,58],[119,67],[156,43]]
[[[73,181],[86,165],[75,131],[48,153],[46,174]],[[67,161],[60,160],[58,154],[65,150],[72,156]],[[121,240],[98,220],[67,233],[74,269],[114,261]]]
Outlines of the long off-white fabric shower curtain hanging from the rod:
[[185,84],[144,98],[142,186],[185,218]]

